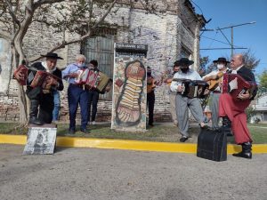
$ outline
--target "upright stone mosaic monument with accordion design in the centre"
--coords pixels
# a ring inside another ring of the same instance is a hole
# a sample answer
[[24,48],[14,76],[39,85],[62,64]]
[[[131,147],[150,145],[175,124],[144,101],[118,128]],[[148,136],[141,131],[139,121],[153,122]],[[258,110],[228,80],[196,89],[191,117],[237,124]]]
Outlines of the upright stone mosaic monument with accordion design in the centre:
[[115,44],[111,128],[146,130],[147,45]]

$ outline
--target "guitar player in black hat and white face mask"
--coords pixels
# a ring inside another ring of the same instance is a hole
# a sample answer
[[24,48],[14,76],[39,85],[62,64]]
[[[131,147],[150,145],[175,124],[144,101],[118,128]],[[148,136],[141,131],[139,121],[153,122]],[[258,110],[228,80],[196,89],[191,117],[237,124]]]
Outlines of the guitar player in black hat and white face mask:
[[[222,77],[223,74],[228,70],[228,63],[230,63],[230,61],[226,60],[223,57],[218,58],[218,60],[214,60],[214,64],[217,66],[217,69],[207,74],[206,76],[203,76],[203,80],[206,82],[220,80],[220,76]],[[212,124],[214,129],[219,128],[219,98],[221,95],[222,82],[216,85],[218,86],[214,88],[213,92],[211,92],[212,100],[210,102],[210,108],[212,112]]]

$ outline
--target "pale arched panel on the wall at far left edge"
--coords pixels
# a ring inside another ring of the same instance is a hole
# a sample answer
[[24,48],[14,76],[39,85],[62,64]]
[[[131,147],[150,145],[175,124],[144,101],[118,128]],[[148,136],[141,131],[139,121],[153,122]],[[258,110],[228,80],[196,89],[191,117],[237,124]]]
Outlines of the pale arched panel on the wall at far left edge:
[[11,76],[11,47],[0,38],[0,95],[6,95]]

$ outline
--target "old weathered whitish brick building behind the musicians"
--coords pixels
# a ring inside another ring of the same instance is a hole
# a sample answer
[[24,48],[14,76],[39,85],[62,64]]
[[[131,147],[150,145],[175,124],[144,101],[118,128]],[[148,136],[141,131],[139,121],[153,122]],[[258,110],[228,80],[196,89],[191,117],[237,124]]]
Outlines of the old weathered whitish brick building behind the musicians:
[[[194,60],[191,68],[198,70],[199,65],[199,31],[206,20],[194,11],[189,0],[161,0],[154,1],[156,12],[148,12],[142,4],[133,6],[132,1],[121,1],[114,7],[95,36],[86,39],[81,44],[71,44],[57,51],[64,58],[58,61],[58,68],[65,68],[75,61],[77,53],[83,53],[87,61],[98,60],[101,71],[113,76],[114,43],[148,44],[147,63],[152,68],[152,75],[160,80],[171,71],[175,60],[188,57]],[[111,26],[112,24],[112,26]],[[41,34],[40,34],[41,33]],[[66,37],[73,37],[66,33]],[[28,58],[44,54],[61,41],[60,35],[40,24],[32,24],[23,41],[23,48]],[[6,48],[8,49],[8,48]],[[1,49],[0,49],[1,50]],[[9,52],[5,52],[8,56]],[[2,68],[3,64],[1,63]],[[12,76],[12,73],[7,73]],[[19,120],[17,97],[17,83],[15,80],[1,82],[6,90],[0,94],[0,121]],[[69,119],[67,102],[67,88],[61,92],[60,120]],[[170,121],[169,88],[162,84],[156,88],[155,121]],[[111,117],[112,92],[101,95],[99,101],[97,121],[109,121]],[[78,111],[79,112],[79,111]],[[79,116],[77,116],[79,117]]]

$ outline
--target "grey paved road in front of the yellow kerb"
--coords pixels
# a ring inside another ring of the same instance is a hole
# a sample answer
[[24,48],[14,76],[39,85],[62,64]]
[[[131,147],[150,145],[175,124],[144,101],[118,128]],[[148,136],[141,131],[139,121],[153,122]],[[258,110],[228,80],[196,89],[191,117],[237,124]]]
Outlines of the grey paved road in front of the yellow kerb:
[[213,162],[190,154],[60,148],[21,156],[0,145],[0,199],[267,199],[267,155]]

